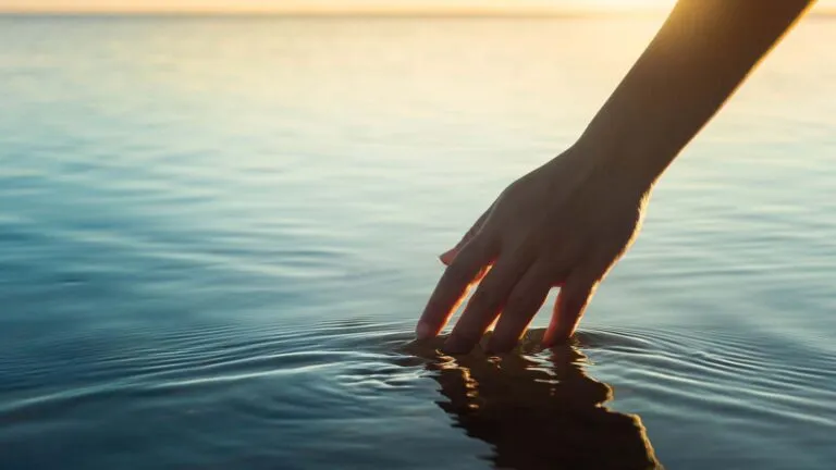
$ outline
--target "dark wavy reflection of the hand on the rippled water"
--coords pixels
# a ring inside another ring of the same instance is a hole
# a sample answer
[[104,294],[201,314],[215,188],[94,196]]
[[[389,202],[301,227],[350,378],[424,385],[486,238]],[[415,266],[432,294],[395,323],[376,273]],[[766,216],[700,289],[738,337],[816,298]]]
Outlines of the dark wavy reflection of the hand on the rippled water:
[[661,468],[639,418],[603,406],[612,388],[585,373],[583,354],[569,345],[541,349],[542,334],[529,332],[502,358],[477,347],[454,359],[439,351],[443,338],[407,349],[430,361],[446,397],[439,406],[493,447],[496,468]]

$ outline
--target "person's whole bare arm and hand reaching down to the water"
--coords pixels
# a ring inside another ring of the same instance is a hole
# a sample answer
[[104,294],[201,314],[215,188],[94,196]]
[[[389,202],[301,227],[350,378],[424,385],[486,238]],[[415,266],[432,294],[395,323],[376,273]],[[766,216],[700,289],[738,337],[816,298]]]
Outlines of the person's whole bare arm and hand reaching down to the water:
[[446,352],[469,351],[493,324],[488,350],[512,349],[552,287],[543,345],[569,338],[636,238],[654,183],[812,3],[680,0],[576,144],[512,183],[441,256],[419,339],[477,284]]

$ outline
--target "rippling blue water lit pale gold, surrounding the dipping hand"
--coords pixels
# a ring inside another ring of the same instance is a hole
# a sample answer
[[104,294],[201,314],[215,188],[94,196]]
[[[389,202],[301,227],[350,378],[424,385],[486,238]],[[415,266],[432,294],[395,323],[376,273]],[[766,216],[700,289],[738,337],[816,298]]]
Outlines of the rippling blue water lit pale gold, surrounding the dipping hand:
[[[836,42],[660,183],[573,346],[414,345],[662,18],[0,18],[0,469],[832,469]],[[640,119],[640,116],[637,116]]]

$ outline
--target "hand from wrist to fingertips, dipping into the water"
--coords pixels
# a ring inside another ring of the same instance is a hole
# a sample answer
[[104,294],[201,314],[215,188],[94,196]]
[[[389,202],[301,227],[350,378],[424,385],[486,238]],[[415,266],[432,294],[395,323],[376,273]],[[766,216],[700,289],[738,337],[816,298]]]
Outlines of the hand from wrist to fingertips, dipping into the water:
[[571,336],[598,284],[638,233],[650,184],[571,148],[508,186],[465,237],[441,256],[447,268],[416,329],[438,335],[479,283],[444,344],[469,351],[496,321],[488,349],[512,349],[561,287],[544,346]]

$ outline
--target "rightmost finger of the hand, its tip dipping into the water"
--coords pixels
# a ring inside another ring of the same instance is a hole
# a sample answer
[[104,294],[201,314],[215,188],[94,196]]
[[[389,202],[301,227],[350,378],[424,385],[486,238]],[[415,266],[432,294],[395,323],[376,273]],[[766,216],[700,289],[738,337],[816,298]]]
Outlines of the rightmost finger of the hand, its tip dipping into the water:
[[601,276],[595,271],[578,269],[566,279],[554,304],[552,321],[543,335],[543,346],[551,347],[571,337],[580,323]]

